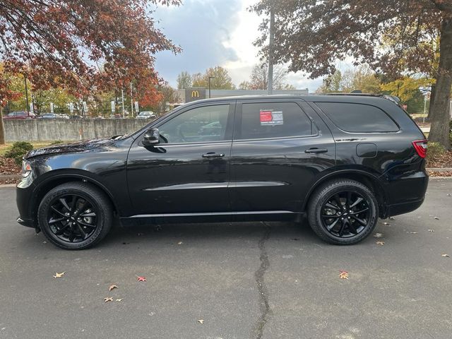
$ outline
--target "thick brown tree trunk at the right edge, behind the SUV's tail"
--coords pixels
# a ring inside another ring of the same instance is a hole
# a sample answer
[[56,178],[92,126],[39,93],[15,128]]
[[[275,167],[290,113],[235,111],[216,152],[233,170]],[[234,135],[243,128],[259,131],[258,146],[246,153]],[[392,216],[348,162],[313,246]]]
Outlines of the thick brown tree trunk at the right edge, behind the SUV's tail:
[[452,18],[444,18],[441,24],[439,45],[439,68],[436,76],[436,90],[432,107],[432,127],[429,141],[441,143],[451,148],[449,141],[449,121],[451,120],[450,100],[452,86]]

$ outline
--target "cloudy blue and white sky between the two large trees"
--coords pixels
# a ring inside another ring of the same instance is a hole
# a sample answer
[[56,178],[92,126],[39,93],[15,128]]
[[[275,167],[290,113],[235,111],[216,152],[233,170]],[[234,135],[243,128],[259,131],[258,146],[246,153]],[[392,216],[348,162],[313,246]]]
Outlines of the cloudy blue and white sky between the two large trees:
[[[157,26],[183,52],[157,54],[156,68],[170,85],[176,86],[181,71],[203,73],[209,67],[223,66],[232,82],[239,85],[249,80],[253,66],[258,63],[258,49],[253,46],[261,22],[246,10],[256,0],[184,0],[179,7],[160,6],[153,13]],[[290,73],[287,83],[314,92],[321,79],[309,80],[304,74]]]

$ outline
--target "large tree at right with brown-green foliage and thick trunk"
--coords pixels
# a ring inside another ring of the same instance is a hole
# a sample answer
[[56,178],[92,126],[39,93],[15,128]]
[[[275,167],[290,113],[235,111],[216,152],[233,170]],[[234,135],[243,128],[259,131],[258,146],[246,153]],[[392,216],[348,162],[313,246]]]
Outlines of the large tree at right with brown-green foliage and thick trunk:
[[[346,57],[367,62],[393,79],[405,69],[427,73],[438,57],[429,139],[451,147],[450,0],[375,0],[371,6],[362,0],[260,0],[252,7],[266,16],[270,8],[276,17],[273,57],[289,63],[290,71],[306,71],[311,78],[334,73],[337,60]],[[268,27],[265,19],[261,25],[263,35],[256,40],[263,57],[268,57]],[[438,56],[431,46],[435,32],[439,32],[440,39]]]

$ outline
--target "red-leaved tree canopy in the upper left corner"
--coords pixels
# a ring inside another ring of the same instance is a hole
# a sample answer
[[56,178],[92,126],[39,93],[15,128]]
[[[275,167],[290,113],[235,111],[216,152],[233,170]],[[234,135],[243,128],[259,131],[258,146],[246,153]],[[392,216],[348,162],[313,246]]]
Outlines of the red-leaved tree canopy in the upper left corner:
[[[179,52],[155,28],[158,5],[180,0],[0,1],[0,57],[7,72],[22,73],[33,88],[61,86],[88,95],[135,84],[138,98],[155,102],[160,81],[155,53]],[[5,90],[0,83],[1,91]],[[2,97],[2,100],[7,100]]]

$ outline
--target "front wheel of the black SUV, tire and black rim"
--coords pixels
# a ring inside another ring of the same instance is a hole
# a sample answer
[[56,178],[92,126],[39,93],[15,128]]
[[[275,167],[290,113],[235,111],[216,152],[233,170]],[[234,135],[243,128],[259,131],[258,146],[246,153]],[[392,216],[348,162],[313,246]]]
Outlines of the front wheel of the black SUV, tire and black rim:
[[61,249],[88,249],[108,234],[113,210],[107,196],[95,186],[69,182],[42,198],[37,218],[52,244]]

